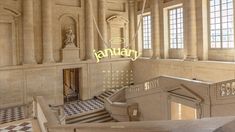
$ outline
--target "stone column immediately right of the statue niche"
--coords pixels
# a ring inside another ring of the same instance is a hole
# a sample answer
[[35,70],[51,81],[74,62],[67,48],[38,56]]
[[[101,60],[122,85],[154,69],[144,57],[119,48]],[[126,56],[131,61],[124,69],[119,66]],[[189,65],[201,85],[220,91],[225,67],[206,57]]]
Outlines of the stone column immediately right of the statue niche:
[[94,50],[94,26],[92,19],[92,9],[89,4],[89,0],[85,1],[86,3],[86,23],[85,23],[85,37],[86,37],[86,59],[94,59],[93,50]]

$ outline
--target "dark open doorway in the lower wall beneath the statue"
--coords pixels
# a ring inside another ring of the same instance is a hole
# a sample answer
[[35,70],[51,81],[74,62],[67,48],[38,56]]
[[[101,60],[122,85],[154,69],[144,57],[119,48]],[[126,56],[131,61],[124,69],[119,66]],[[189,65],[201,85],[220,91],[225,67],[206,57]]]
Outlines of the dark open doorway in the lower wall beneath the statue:
[[64,102],[79,100],[79,68],[63,70]]

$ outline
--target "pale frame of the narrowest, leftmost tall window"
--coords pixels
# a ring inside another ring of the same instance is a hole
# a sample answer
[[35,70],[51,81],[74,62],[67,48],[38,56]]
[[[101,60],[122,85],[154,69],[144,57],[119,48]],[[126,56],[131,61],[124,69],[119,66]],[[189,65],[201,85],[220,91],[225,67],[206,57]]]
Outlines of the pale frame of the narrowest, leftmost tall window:
[[[149,44],[149,48],[145,48],[145,45],[144,45],[144,17],[146,17],[146,16],[150,16],[150,30],[151,30],[151,32],[150,32],[150,44]],[[143,50],[152,50],[152,48],[153,48],[153,46],[152,46],[152,15],[151,15],[151,12],[147,12],[147,13],[144,13],[143,14],[143,17],[142,17],[142,24],[141,24],[141,27],[142,27],[142,29],[141,29],[141,33],[142,33],[142,49]]]

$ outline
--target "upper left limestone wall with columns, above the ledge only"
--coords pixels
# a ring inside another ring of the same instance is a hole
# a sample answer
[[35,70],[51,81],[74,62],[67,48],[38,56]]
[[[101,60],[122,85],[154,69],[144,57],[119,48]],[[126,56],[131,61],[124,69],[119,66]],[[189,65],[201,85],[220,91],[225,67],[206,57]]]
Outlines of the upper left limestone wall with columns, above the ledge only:
[[[93,17],[108,43],[112,37],[121,37],[115,41],[124,38],[129,46],[129,32],[133,34],[135,30],[134,26],[129,30],[129,0],[92,0],[90,4],[86,0],[1,0],[0,3],[0,55],[4,56],[0,66],[61,62],[68,28],[75,35],[79,59],[92,58],[94,49],[107,47],[98,36]],[[109,18],[116,16],[123,19],[123,24],[109,25]]]

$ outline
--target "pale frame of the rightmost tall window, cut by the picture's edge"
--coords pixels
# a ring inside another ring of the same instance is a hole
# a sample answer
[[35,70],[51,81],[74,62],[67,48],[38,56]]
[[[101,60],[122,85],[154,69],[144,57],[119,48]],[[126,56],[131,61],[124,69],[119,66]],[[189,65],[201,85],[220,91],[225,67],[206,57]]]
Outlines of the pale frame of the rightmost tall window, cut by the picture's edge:
[[[220,0],[220,3],[222,0]],[[222,16],[220,16],[220,32],[221,32],[221,35],[220,35],[220,48],[216,48],[216,47],[212,47],[211,46],[211,4],[210,4],[210,0],[207,0],[207,19],[208,19],[208,23],[207,23],[207,27],[208,27],[208,49],[209,50],[234,50],[235,49],[235,1],[233,1],[233,48],[223,48],[223,40],[222,40],[222,37],[223,37],[223,34],[222,34]],[[220,4],[220,15],[222,14],[222,4]]]

